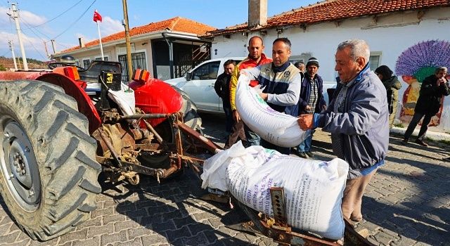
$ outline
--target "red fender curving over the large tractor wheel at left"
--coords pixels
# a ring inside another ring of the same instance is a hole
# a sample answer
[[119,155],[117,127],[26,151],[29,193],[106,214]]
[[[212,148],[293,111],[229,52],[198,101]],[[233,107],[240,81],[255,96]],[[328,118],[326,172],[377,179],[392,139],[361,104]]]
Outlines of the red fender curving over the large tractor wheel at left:
[[84,92],[77,82],[57,73],[48,73],[41,75],[36,80],[54,84],[64,89],[65,93],[72,98],[75,98],[78,105],[78,111],[87,117],[89,120],[89,134],[92,134],[98,127],[101,126],[101,119],[98,112],[91,101],[91,98]]

